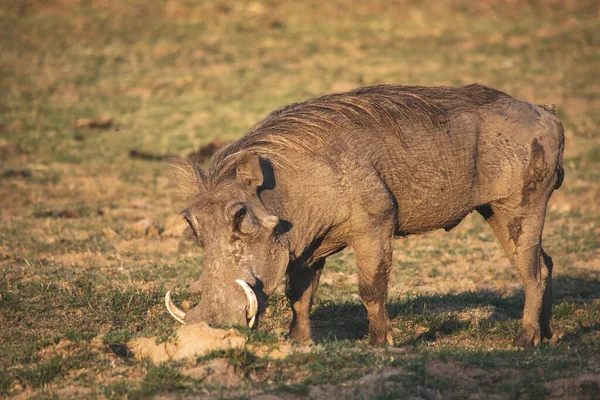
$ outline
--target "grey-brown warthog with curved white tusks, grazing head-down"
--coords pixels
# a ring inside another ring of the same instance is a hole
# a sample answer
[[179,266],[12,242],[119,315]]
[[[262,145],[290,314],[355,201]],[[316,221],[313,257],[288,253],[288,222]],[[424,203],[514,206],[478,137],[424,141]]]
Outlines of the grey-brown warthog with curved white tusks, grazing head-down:
[[290,338],[310,340],[327,256],[354,249],[372,344],[393,344],[386,311],[392,239],[450,230],[476,210],[525,288],[519,346],[550,338],[552,260],[541,246],[562,181],[563,127],[546,106],[481,85],[381,85],[270,113],[204,172],[173,159],[183,212],[205,257],[182,323],[249,324],[284,278]]

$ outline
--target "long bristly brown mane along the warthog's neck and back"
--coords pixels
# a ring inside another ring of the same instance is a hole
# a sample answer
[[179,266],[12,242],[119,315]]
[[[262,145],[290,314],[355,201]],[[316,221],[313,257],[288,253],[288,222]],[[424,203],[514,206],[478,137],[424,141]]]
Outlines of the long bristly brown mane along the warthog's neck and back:
[[385,130],[402,137],[414,127],[439,128],[450,113],[474,112],[501,96],[507,95],[477,84],[461,88],[379,85],[290,104],[271,112],[218,151],[210,162],[208,178],[218,182],[231,177],[243,152],[269,158],[280,169],[293,167],[279,156],[282,150],[331,163],[323,153],[335,154],[335,135],[344,128]]

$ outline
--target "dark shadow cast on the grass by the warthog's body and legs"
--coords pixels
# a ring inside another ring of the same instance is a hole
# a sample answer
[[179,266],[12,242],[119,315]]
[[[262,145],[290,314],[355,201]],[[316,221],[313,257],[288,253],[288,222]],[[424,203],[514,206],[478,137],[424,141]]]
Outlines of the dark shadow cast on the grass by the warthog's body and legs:
[[[554,306],[562,303],[586,304],[600,299],[599,282],[591,277],[557,276],[553,281],[553,292]],[[388,301],[388,313],[390,319],[394,320],[402,316],[431,316],[449,310],[493,306],[507,319],[517,320],[521,318],[523,312],[524,298],[523,292],[505,296],[500,292],[485,289],[475,292],[396,297]],[[368,333],[367,312],[361,303],[355,301],[322,302],[314,308],[310,319],[312,339],[317,343],[336,340],[359,340]],[[497,321],[492,316],[488,322],[495,324]],[[450,315],[440,319],[439,323],[430,325],[428,331],[420,333],[409,342],[403,343],[403,345],[433,341],[440,336],[468,330],[471,327],[471,322],[462,321]],[[590,330],[600,330],[600,326],[596,324],[590,327],[581,327],[576,332],[562,338],[561,341],[572,341]]]

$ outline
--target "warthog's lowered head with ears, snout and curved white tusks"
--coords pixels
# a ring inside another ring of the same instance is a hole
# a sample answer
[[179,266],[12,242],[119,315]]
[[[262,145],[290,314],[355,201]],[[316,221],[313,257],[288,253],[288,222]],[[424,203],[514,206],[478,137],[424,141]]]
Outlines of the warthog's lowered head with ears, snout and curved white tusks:
[[229,172],[208,178],[182,159],[171,159],[171,165],[182,191],[193,200],[183,216],[204,249],[204,262],[194,284],[201,293],[198,305],[185,313],[167,292],[167,308],[183,324],[205,321],[251,328],[266,289],[281,281],[289,257],[279,240],[279,218],[259,196],[264,166],[255,155],[241,155]]

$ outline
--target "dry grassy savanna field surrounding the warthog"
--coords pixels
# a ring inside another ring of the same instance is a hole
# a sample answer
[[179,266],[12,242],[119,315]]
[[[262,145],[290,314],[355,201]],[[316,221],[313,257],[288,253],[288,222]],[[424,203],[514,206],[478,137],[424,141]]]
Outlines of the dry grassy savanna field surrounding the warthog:
[[[0,397],[599,398],[600,5],[584,0],[19,0],[0,3]],[[271,110],[358,86],[482,83],[554,103],[554,337],[518,350],[523,290],[491,229],[395,242],[397,347],[367,343],[351,249],[331,257],[312,346],[279,290],[246,345],[152,363],[163,305],[203,254],[166,153],[206,159]],[[204,152],[204,153],[203,153]]]

